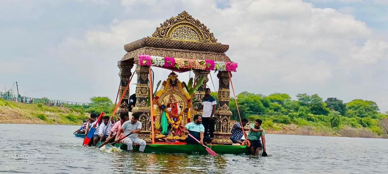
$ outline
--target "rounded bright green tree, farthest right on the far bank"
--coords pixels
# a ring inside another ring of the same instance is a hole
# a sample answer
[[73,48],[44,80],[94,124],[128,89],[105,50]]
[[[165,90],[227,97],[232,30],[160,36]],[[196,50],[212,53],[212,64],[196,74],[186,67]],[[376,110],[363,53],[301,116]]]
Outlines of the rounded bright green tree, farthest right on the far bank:
[[376,102],[367,101],[362,99],[354,99],[351,102],[346,103],[348,110],[354,111],[355,116],[357,117],[371,117],[376,118],[379,109]]

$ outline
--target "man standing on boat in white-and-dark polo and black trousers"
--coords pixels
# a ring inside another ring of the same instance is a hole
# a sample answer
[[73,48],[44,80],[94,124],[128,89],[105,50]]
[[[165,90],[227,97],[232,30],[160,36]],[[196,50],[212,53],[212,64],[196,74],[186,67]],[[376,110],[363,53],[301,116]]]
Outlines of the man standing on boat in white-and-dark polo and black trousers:
[[[205,128],[204,136],[209,136],[210,138],[214,138],[214,121],[213,115],[216,111],[216,99],[213,96],[210,96],[210,88],[205,89],[205,97],[202,99],[202,106],[195,109],[196,111],[200,111],[203,109],[202,114],[202,124]],[[208,133],[209,130],[209,133]]]

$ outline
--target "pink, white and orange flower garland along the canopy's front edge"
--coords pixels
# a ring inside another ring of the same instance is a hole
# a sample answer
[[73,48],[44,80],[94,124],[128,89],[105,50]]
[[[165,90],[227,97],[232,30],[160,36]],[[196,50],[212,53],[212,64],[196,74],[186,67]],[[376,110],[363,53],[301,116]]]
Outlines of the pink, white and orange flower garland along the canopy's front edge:
[[194,60],[173,57],[161,57],[151,55],[139,55],[139,65],[185,68],[194,70],[216,70],[236,72],[238,64],[230,61]]

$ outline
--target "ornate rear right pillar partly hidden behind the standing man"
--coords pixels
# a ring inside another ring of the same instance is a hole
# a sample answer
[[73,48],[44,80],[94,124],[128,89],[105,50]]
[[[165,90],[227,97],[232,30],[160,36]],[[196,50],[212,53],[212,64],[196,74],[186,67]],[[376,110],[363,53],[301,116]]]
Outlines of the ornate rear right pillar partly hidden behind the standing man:
[[[209,81],[209,78],[208,78],[208,74],[210,73],[210,71],[206,71],[206,70],[194,70],[193,71],[195,76],[194,76],[194,82],[195,83],[198,83],[199,80],[202,78],[202,76],[204,76],[204,80],[203,80],[203,84],[198,88],[198,90],[195,92],[194,96],[195,96],[195,99],[196,100],[199,100],[199,103],[202,103],[202,99],[203,97],[205,97],[205,89],[206,89],[206,83]],[[201,106],[201,104],[199,104],[199,106]],[[193,106],[193,108],[198,108],[198,105],[196,106]],[[197,112],[198,115],[202,116],[203,114],[203,109],[201,109],[200,111]],[[194,115],[192,115],[191,117],[193,117]],[[191,121],[192,118],[191,118]]]

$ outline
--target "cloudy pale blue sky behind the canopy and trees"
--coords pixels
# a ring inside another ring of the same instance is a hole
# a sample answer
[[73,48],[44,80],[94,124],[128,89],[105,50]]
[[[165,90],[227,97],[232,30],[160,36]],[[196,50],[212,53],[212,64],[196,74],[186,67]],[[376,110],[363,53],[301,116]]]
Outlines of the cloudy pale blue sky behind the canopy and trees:
[[[364,99],[388,111],[388,0],[0,1],[0,91],[17,81],[28,97],[114,100],[123,46],[184,10],[230,45],[237,94]],[[156,81],[169,73],[153,70]]]

